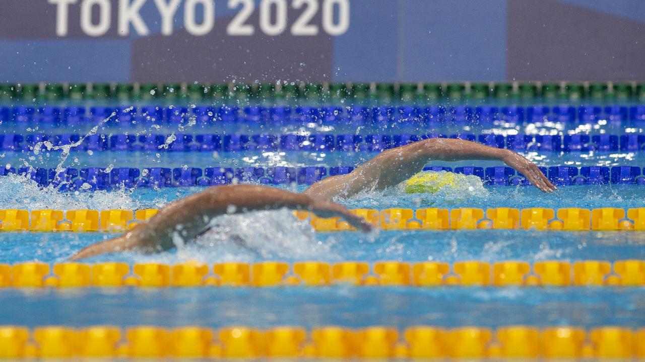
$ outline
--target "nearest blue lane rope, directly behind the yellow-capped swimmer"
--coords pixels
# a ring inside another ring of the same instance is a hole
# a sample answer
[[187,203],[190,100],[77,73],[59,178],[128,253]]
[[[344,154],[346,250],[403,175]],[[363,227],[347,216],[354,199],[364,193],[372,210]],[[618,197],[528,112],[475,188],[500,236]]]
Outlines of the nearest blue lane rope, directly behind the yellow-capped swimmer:
[[[353,166],[308,167],[88,167],[68,168],[64,171],[42,167],[0,168],[0,176],[21,175],[33,180],[40,187],[52,186],[59,191],[96,191],[133,187],[192,187],[249,183],[265,185],[311,185],[325,176],[346,175]],[[552,166],[539,167],[553,184],[601,185],[645,184],[645,170],[637,166]],[[486,185],[526,186],[530,182],[511,167],[425,167],[424,171],[451,171],[473,175]]]

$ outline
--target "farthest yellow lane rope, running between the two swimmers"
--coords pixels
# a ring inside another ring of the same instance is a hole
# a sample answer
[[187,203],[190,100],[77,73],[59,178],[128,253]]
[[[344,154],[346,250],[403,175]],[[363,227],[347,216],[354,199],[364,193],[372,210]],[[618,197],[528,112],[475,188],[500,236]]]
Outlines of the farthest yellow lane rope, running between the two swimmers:
[[[22,210],[1,209],[0,231],[108,231],[132,229],[151,218],[157,209],[130,210]],[[384,230],[457,230],[457,229],[525,229],[561,231],[645,230],[645,207],[619,209],[352,209]],[[294,211],[300,220],[308,220],[316,231],[350,231],[353,228],[341,218],[319,218],[308,211]]]

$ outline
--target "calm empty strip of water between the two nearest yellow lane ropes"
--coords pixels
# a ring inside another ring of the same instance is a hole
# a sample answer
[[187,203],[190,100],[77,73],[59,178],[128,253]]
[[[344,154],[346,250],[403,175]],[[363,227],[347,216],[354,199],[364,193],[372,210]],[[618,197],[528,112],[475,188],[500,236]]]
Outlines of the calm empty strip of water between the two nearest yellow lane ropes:
[[325,287],[1,290],[5,325],[645,325],[644,288]]

